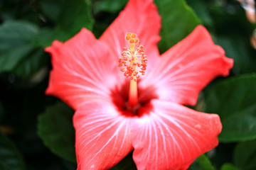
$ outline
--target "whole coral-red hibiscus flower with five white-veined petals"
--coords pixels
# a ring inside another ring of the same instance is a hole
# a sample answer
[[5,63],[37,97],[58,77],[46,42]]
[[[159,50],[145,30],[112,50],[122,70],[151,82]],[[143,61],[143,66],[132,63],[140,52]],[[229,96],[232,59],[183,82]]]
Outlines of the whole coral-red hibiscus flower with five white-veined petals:
[[160,28],[153,0],[130,0],[99,40],[83,28],[46,48],[46,94],[75,109],[78,169],[110,169],[133,149],[137,169],[187,169],[218,145],[218,115],[183,105],[228,76],[233,60],[203,26],[160,56]]

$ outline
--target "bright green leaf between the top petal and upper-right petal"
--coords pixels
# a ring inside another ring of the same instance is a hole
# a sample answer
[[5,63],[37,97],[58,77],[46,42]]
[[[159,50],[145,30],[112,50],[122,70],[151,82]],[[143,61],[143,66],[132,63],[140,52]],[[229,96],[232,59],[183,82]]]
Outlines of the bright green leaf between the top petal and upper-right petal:
[[201,22],[183,0],[155,0],[155,3],[161,15],[159,50],[162,53],[185,38]]

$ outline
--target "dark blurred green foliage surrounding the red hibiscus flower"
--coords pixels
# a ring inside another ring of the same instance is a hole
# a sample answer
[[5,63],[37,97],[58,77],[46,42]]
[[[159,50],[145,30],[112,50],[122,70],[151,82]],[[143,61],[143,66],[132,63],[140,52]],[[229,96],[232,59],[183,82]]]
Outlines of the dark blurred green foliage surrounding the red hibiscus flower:
[[[96,38],[118,16],[127,0],[0,1],[0,169],[76,169],[73,110],[46,96],[53,40],[65,41],[81,28]],[[256,169],[256,50],[238,1],[155,0],[161,14],[160,52],[202,23],[228,57],[235,60],[227,79],[203,92],[199,111],[218,113],[220,145],[190,169]],[[136,169],[132,153],[113,169]]]

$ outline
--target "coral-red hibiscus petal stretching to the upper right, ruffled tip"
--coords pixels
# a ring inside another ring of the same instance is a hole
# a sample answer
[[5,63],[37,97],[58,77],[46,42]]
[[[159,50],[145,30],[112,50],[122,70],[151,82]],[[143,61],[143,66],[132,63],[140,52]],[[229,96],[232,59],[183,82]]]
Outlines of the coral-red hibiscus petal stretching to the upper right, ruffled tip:
[[210,81],[228,76],[233,60],[224,53],[214,45],[206,28],[197,26],[191,35],[161,55],[140,87],[147,89],[145,93],[155,91],[159,99],[193,106]]

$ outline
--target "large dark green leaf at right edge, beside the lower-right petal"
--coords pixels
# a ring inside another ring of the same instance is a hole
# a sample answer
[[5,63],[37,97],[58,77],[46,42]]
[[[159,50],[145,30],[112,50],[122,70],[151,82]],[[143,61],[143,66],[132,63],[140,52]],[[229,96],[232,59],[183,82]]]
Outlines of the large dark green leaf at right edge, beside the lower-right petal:
[[226,79],[206,98],[207,113],[218,113],[223,124],[220,142],[256,138],[256,74]]

